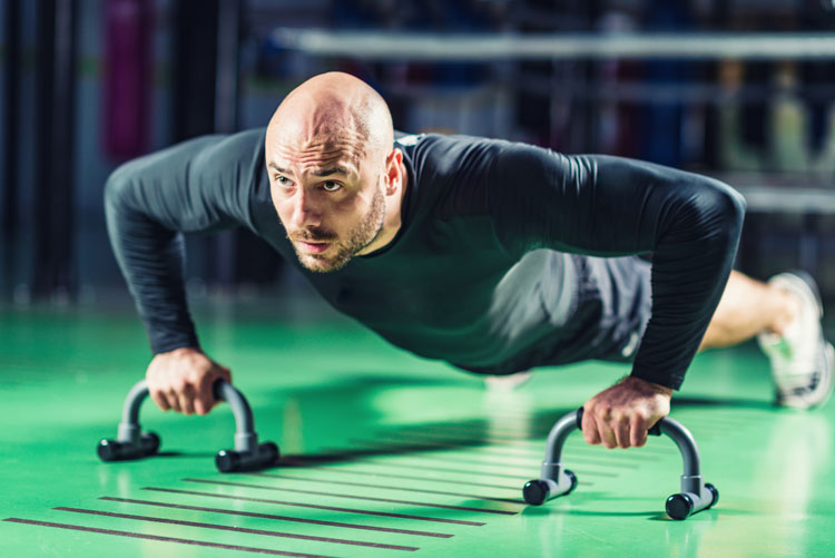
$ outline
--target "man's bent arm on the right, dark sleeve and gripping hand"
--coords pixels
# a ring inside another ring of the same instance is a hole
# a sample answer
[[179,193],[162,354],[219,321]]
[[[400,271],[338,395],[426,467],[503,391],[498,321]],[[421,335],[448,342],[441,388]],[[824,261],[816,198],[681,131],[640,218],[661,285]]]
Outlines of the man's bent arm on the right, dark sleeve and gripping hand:
[[[631,375],[587,403],[583,432],[592,443],[600,441],[591,432],[599,419],[611,427],[599,432],[609,447],[623,435],[628,440],[623,424],[644,425],[667,414],[669,407],[664,410],[658,398],[668,403],[681,385],[730,274],[745,214],[741,195],[718,180],[659,165],[569,157],[521,144],[507,144],[498,154],[490,192],[509,249],[652,253],[652,314]],[[640,420],[625,411],[630,398],[642,409]]]

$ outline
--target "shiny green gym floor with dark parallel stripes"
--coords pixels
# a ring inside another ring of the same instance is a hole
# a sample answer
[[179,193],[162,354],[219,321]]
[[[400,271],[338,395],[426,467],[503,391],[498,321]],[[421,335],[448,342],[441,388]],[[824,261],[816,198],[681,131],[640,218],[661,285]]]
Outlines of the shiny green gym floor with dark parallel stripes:
[[263,474],[220,474],[226,408],[184,418],[147,402],[143,425],[163,454],[98,461],[96,442],[115,435],[147,363],[129,309],[0,310],[0,555],[835,554],[835,403],[773,409],[754,345],[700,355],[674,400],[720,500],[672,521],[664,501],[681,462],[666,438],[607,451],[574,433],[564,460],[577,490],[541,508],[521,500],[552,422],[628,369],[544,369],[497,393],[326,312],[292,326],[272,314],[306,316],[261,302],[198,312],[206,349],[232,366],[261,438],[285,456]]

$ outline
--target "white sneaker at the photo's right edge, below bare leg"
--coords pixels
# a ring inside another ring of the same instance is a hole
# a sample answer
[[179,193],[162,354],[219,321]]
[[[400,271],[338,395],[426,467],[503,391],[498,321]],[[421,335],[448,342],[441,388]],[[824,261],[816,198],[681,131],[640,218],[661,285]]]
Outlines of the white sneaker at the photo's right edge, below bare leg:
[[835,350],[824,339],[824,309],[815,280],[805,272],[789,272],[775,275],[768,284],[788,291],[800,303],[798,315],[783,335],[757,335],[772,363],[777,404],[794,409],[823,405],[832,395]]

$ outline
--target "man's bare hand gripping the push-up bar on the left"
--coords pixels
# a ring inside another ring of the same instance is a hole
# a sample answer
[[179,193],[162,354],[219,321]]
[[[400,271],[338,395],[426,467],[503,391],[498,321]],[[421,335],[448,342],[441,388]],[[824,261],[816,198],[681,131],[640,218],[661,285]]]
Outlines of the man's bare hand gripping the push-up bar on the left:
[[217,403],[212,385],[232,382],[232,373],[195,347],[175,349],[154,356],[145,373],[150,398],[163,411],[207,414]]

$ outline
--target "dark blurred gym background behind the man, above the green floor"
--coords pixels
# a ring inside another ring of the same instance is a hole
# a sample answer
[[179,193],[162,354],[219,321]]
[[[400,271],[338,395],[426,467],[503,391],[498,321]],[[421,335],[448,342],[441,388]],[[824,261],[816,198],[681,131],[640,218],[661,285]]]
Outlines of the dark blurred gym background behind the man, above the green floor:
[[[293,87],[334,69],[375,87],[401,130],[725,179],[749,200],[737,267],[805,268],[835,302],[832,0],[4,0],[0,18],[0,306],[127,300],[105,231],[108,174],[189,137],[264,126]],[[814,33],[828,53],[589,50],[713,32]],[[468,37],[543,37],[573,53],[479,52]],[[304,290],[245,231],[189,238],[187,276],[193,297]]]

